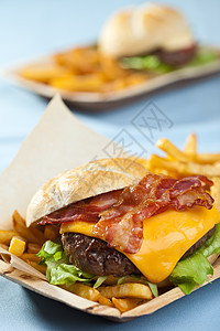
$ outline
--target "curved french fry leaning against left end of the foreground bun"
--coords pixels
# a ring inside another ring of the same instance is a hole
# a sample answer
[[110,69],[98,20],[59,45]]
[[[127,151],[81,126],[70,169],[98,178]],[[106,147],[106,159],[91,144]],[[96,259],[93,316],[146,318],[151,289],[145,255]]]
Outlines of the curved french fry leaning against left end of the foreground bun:
[[12,224],[14,232],[16,232],[25,241],[38,245],[43,245],[43,243],[45,242],[44,234],[38,228],[35,228],[33,226],[29,228],[26,227],[25,221],[21,217],[18,211],[14,211],[12,215]]

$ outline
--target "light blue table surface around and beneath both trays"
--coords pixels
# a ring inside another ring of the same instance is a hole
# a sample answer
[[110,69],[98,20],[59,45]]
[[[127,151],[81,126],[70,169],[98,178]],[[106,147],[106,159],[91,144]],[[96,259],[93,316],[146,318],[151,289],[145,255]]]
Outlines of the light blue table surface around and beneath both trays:
[[[0,68],[74,44],[95,41],[113,10],[142,1],[0,1]],[[218,0],[157,1],[179,8],[198,40],[220,44]],[[118,137],[122,129],[135,137],[146,153],[148,139],[133,126],[134,117],[153,102],[172,126],[154,130],[153,142],[165,136],[183,147],[186,135],[199,137],[201,151],[219,151],[220,76],[194,85],[158,93],[135,104],[103,114],[75,114],[89,127]],[[10,164],[20,145],[43,114],[46,102],[0,81],[0,171]],[[9,197],[10,199],[10,197]],[[0,279],[0,330],[219,330],[220,280],[188,297],[125,324],[85,314]]]

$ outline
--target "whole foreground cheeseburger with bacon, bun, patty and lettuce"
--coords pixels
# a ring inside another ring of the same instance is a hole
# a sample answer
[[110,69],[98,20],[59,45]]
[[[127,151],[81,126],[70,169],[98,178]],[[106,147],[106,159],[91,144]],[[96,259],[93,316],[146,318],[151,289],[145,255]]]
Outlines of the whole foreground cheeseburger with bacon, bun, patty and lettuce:
[[220,250],[211,185],[204,175],[177,180],[130,159],[102,159],[45,183],[26,223],[59,228],[61,238],[40,252],[52,284],[131,276],[189,293],[212,274]]

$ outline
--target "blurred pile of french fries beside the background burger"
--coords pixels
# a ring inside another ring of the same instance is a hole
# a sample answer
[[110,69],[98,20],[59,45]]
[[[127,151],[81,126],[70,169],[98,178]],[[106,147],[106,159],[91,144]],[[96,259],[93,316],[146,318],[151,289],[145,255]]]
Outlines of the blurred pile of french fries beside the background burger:
[[109,93],[140,84],[146,74],[122,68],[117,60],[95,46],[78,47],[51,57],[50,63],[29,65],[20,75],[68,92]]

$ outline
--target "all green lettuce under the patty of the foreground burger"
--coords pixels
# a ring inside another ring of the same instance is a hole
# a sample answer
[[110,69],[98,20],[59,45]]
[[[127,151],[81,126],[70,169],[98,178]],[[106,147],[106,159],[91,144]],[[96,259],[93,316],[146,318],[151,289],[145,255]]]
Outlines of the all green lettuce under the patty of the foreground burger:
[[[180,259],[169,280],[178,286],[184,293],[189,295],[197,285],[201,285],[208,280],[208,275],[213,275],[213,268],[207,257],[220,252],[220,224],[216,225],[215,234],[206,241],[191,256]],[[53,285],[74,284],[82,281],[85,284],[92,282],[98,288],[108,278],[107,276],[97,277],[92,274],[84,273],[69,263],[67,255],[61,243],[47,241],[37,254],[41,257],[41,264],[46,265],[46,277]],[[145,280],[155,297],[157,297],[157,287],[151,284],[143,276],[131,275],[133,278]],[[124,282],[127,277],[119,277],[118,284]]]

